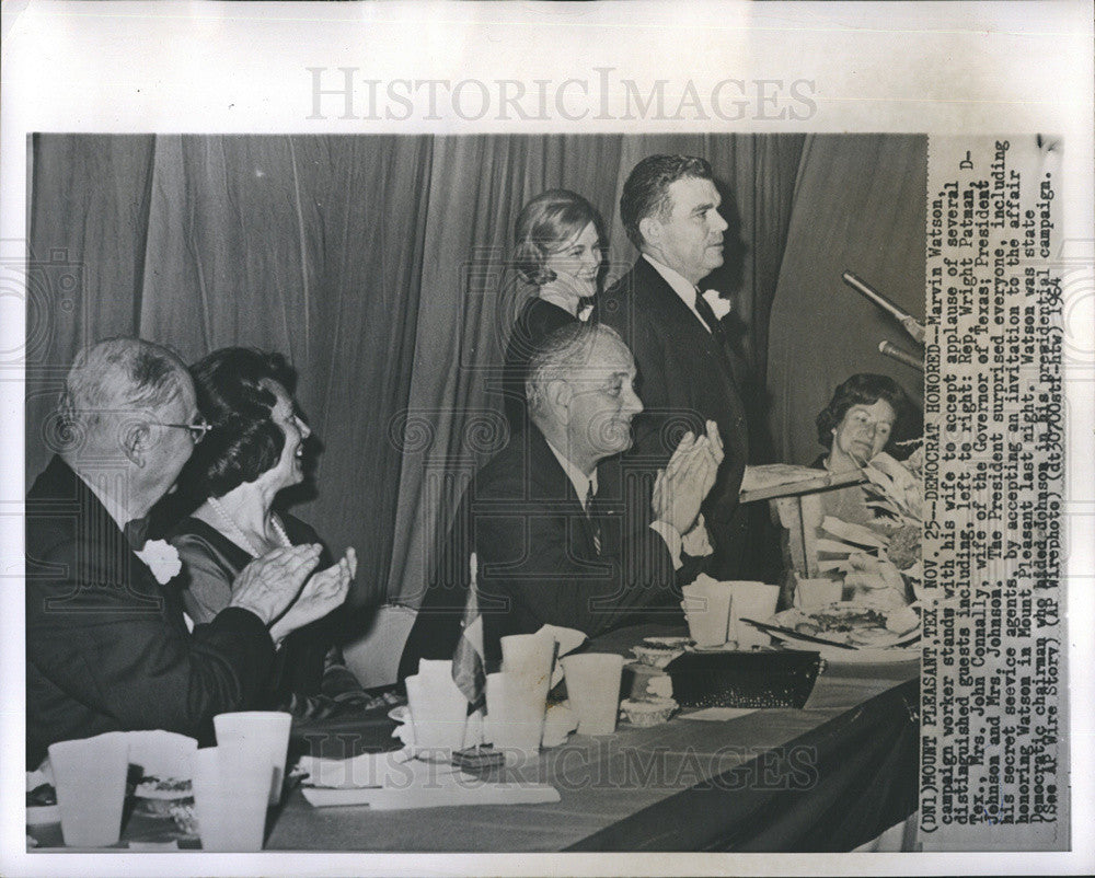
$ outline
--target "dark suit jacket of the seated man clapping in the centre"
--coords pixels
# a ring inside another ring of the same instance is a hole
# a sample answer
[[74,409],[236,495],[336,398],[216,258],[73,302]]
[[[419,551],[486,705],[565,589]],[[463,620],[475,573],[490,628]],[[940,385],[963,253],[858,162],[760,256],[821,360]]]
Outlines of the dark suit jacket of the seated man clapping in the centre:
[[[648,496],[619,458],[598,466],[593,523],[534,426],[510,441],[469,486],[407,638],[400,679],[419,658],[452,657],[468,596],[471,547],[479,561],[479,605],[487,661],[498,640],[545,623],[590,637],[644,619],[680,621],[678,574],[665,541],[649,528]],[[680,576],[694,575],[694,564]]]

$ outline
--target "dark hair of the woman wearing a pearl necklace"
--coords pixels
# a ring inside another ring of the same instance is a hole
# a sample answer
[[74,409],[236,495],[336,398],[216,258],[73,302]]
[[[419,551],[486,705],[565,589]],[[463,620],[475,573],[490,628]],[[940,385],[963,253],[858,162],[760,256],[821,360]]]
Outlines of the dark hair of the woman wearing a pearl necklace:
[[180,484],[197,497],[223,497],[277,465],[285,432],[270,419],[277,382],[291,397],[297,373],[280,354],[215,350],[191,367],[198,409],[212,429],[194,448]]

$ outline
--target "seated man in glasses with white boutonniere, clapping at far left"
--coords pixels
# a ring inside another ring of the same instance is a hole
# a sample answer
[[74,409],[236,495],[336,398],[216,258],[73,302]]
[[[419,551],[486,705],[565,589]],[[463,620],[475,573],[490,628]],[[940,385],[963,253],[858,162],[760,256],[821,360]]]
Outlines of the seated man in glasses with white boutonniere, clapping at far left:
[[275,643],[346,598],[338,565],[304,585],[319,545],[279,548],[240,573],[228,608],[187,631],[178,593],[162,587],[177,553],[146,546],[141,525],[209,429],[195,398],[183,362],[137,338],[101,342],[69,371],[69,441],[26,496],[31,767],[55,741],[104,731],[211,742],[214,715],[261,706]]

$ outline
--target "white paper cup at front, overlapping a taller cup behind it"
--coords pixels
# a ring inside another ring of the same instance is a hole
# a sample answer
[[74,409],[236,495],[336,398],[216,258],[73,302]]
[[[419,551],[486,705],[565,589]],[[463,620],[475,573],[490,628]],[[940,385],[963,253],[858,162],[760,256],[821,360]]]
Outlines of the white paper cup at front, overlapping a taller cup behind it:
[[204,851],[263,850],[269,760],[239,741],[194,753],[194,811]]

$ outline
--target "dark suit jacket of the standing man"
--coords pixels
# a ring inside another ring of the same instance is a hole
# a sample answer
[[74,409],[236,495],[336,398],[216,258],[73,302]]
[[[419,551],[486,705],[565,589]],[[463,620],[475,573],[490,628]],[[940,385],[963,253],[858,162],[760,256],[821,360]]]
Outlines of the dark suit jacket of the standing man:
[[744,521],[733,519],[749,457],[735,353],[719,345],[642,257],[602,294],[599,319],[623,336],[638,369],[645,411],[635,421],[635,446],[626,457],[664,466],[685,430],[699,434],[707,419],[718,425],[726,459],[702,511],[715,547],[713,574],[734,575],[745,534]]

